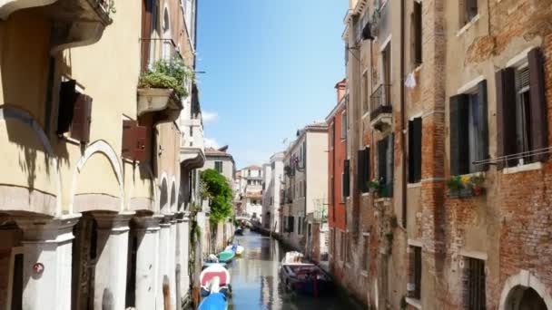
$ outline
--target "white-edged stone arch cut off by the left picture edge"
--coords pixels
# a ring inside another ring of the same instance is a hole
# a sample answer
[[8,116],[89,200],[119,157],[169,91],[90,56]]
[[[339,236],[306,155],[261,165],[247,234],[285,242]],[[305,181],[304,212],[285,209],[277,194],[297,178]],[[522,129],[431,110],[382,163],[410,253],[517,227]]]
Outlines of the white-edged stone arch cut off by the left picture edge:
[[[0,196],[9,198],[0,199],[0,208],[3,207],[5,202],[7,202],[6,207],[7,205],[10,206],[9,208],[14,208],[14,206],[23,206],[25,208],[22,208],[22,211],[29,211],[29,205],[35,206],[33,201],[37,201],[37,204],[42,206],[41,208],[35,210],[37,213],[44,213],[51,216],[61,215],[62,181],[61,174],[59,173],[59,164],[54,153],[54,149],[50,144],[50,140],[48,140],[48,137],[42,127],[38,124],[38,122],[34,121],[31,114],[12,106],[0,106],[0,121],[15,121],[34,132],[35,137],[38,138],[45,151],[45,160],[48,161],[47,167],[53,168],[55,182],[55,195],[47,194],[40,190],[29,190],[13,186],[0,186]],[[50,206],[52,206],[52,208],[50,208]]]

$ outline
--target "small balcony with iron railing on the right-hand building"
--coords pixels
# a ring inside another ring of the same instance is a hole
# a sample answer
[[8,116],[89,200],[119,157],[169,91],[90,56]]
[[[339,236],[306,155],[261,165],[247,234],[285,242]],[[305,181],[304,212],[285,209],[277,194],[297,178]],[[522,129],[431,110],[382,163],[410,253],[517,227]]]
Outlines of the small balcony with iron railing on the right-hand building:
[[377,131],[387,131],[393,123],[390,86],[381,84],[370,96],[370,125]]

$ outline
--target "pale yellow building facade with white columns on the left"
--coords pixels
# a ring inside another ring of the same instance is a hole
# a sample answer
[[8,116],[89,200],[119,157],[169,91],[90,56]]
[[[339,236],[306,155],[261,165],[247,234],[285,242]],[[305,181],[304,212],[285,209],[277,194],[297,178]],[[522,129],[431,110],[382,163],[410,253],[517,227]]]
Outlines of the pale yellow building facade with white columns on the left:
[[139,79],[193,70],[195,4],[0,1],[0,308],[181,307],[179,117],[197,98]]

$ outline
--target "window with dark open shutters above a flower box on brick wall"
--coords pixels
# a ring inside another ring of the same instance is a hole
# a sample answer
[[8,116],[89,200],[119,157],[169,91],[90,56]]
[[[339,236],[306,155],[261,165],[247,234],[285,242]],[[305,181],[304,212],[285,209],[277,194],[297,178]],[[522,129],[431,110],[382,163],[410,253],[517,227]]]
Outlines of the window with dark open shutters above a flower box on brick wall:
[[474,163],[488,159],[487,82],[450,98],[450,174],[487,170]]

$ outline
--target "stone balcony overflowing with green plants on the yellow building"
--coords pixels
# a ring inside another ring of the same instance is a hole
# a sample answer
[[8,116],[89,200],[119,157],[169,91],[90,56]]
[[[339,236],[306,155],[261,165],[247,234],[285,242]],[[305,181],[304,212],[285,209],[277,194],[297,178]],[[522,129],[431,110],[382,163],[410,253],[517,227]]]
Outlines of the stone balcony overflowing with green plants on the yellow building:
[[141,39],[142,75],[138,85],[138,116],[153,113],[153,121],[176,121],[182,111],[189,70],[173,40]]

